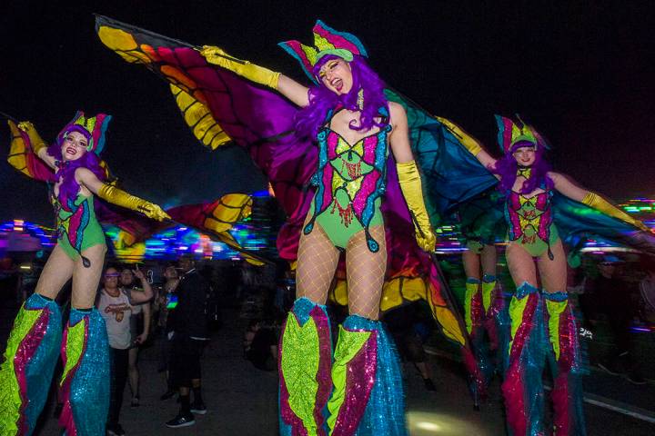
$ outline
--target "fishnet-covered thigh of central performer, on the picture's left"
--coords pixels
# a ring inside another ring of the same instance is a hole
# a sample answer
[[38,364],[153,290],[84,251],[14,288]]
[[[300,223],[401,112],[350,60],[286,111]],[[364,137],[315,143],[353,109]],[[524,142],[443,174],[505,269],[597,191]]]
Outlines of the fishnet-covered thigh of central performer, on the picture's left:
[[338,248],[318,223],[314,223],[311,233],[300,235],[296,269],[297,298],[307,297],[317,304],[325,304],[337,270],[339,254]]

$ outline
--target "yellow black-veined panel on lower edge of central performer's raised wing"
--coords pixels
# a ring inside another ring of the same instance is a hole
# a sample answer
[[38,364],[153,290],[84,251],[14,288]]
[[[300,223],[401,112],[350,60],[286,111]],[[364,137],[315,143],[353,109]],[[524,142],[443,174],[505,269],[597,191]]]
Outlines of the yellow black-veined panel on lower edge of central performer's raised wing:
[[216,150],[219,146],[231,141],[205,104],[200,103],[175,84],[171,84],[170,88],[177,107],[182,111],[186,125],[191,127],[193,134],[203,145]]

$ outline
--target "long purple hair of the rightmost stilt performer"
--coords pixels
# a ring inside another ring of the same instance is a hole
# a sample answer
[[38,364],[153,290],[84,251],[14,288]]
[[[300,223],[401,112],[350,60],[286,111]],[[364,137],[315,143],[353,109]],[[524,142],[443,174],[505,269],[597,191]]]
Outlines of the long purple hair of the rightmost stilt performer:
[[[512,145],[508,154],[505,154],[501,159],[496,162],[491,168],[491,172],[499,174],[500,183],[499,191],[507,193],[514,188],[514,183],[517,178],[517,171],[519,170],[519,163],[514,158],[514,153],[520,147],[534,147],[535,144],[528,141],[519,141],[517,144]],[[523,186],[519,193],[527,194],[533,192],[535,189],[545,186],[547,189],[553,187],[552,180],[548,176],[550,171],[550,164],[543,157],[543,147],[537,147],[535,150],[535,162],[532,163],[532,172],[528,180],[523,182]]]

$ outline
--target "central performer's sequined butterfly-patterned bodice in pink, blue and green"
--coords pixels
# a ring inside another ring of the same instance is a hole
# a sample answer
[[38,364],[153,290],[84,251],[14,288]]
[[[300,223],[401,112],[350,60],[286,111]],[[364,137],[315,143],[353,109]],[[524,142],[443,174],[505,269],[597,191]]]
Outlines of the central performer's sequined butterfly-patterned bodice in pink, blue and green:
[[317,134],[318,169],[312,177],[317,186],[315,210],[304,232],[312,231],[321,213],[338,213],[346,227],[357,220],[366,231],[369,250],[377,252],[379,246],[370,237],[368,224],[376,212],[376,200],[385,192],[391,126],[385,124],[378,133],[349,144],[330,128],[331,118],[332,114]]

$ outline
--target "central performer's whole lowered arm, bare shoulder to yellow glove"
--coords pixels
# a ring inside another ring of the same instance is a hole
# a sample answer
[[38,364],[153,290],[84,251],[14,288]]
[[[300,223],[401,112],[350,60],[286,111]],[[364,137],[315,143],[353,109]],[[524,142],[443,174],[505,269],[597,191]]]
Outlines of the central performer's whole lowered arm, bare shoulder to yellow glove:
[[393,125],[393,130],[389,136],[389,145],[396,158],[400,190],[408,203],[409,213],[412,215],[418,246],[430,253],[435,249],[437,237],[432,232],[428,211],[423,202],[420,173],[418,173],[418,167],[414,162],[414,155],[409,144],[407,114],[405,109],[396,103],[389,103],[389,112],[391,124]]

